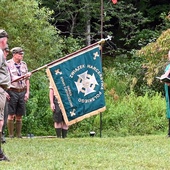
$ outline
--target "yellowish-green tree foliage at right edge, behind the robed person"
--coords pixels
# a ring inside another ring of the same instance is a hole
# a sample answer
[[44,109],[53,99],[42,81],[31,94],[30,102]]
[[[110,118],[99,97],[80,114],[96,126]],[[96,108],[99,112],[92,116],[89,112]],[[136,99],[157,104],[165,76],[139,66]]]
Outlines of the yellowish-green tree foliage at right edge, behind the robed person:
[[170,29],[164,31],[156,42],[149,43],[138,51],[138,56],[146,60],[145,67],[147,67],[147,72],[145,76],[149,85],[153,83],[155,76],[162,74],[164,71],[169,43]]

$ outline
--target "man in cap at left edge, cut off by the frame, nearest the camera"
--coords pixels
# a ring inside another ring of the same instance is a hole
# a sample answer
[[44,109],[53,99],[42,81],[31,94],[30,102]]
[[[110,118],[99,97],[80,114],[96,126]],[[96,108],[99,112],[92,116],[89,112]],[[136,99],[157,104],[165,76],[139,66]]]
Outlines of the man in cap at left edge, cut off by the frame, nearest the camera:
[[[4,108],[6,103],[6,89],[10,86],[10,75],[6,60],[4,58],[3,49],[6,47],[8,41],[8,34],[5,30],[0,29],[0,139],[2,137],[2,126],[4,122]],[[9,161],[1,149],[0,140],[0,161]]]

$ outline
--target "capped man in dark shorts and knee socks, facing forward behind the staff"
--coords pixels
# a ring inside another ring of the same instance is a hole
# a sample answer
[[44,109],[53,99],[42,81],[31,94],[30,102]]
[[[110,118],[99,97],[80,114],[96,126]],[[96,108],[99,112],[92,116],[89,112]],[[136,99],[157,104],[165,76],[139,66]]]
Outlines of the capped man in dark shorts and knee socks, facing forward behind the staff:
[[[11,49],[12,59],[7,61],[8,69],[11,75],[11,81],[26,75],[28,73],[27,64],[23,61],[24,51],[21,47]],[[9,137],[14,137],[14,120],[16,137],[22,138],[22,116],[25,114],[25,103],[29,99],[30,82],[29,78],[25,78],[13,82],[10,89],[7,91],[10,95],[8,104],[8,133]]]

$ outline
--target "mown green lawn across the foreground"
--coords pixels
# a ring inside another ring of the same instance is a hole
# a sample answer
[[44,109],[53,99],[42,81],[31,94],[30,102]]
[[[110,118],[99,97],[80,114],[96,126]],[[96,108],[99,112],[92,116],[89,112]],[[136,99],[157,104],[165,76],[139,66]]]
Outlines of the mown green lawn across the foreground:
[[165,135],[113,138],[23,138],[2,145],[1,170],[167,170]]

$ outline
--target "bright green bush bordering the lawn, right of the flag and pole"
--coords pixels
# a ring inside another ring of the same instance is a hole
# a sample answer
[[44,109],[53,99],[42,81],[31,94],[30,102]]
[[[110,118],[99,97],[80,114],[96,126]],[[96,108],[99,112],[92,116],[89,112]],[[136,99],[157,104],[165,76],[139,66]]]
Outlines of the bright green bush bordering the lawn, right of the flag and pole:
[[131,93],[121,101],[106,99],[107,110],[103,114],[103,129],[111,129],[108,135],[157,134],[166,130],[165,100],[161,94],[144,97]]

